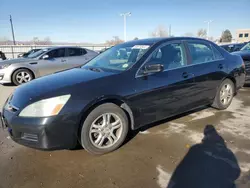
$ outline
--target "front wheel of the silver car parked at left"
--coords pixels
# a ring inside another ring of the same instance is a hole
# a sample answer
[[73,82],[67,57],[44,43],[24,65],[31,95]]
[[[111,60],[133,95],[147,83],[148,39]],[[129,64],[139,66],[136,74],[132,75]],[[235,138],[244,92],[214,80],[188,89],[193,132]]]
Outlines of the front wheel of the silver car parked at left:
[[12,75],[12,82],[18,86],[34,79],[32,72],[28,69],[18,69]]

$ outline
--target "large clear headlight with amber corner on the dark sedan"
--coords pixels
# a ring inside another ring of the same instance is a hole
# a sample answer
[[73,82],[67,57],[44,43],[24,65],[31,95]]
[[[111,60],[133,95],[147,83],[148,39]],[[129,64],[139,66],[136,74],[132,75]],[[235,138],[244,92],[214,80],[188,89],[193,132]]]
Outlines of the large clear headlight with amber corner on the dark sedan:
[[48,117],[59,114],[69,100],[70,95],[63,95],[44,99],[25,107],[19,116],[21,117]]

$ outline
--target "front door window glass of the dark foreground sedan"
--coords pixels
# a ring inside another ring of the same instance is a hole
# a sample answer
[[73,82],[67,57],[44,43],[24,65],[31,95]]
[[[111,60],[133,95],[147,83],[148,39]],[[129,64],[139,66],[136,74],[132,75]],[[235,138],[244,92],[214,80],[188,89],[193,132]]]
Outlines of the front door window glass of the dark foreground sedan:
[[167,44],[153,52],[147,64],[162,64],[164,70],[187,65],[185,49],[181,43]]

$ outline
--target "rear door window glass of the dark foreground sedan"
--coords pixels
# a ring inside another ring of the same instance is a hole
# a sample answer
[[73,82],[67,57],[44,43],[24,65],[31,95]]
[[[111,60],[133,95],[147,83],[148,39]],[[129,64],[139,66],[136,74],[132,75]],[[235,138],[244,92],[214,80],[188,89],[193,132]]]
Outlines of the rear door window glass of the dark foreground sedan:
[[192,57],[192,64],[206,63],[215,60],[210,45],[198,42],[188,42],[188,48]]

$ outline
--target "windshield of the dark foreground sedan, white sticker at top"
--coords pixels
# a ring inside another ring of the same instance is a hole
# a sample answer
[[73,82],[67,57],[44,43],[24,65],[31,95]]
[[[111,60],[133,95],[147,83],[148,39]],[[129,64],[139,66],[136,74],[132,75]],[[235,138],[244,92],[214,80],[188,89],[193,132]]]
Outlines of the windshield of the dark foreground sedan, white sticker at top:
[[124,71],[134,65],[148,50],[148,44],[124,43],[101,53],[82,68],[96,67]]

